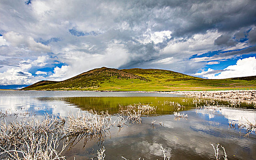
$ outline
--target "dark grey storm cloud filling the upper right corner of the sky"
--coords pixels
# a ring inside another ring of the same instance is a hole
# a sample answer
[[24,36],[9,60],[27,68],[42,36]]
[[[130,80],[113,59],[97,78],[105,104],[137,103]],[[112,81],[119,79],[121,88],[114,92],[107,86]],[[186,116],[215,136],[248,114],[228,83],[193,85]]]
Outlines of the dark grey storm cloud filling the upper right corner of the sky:
[[139,4],[136,6],[148,11],[170,8],[171,14],[160,12],[153,16],[153,21],[160,23],[156,30],[171,28],[174,36],[184,37],[209,29],[230,32],[256,24],[255,0],[145,0]]

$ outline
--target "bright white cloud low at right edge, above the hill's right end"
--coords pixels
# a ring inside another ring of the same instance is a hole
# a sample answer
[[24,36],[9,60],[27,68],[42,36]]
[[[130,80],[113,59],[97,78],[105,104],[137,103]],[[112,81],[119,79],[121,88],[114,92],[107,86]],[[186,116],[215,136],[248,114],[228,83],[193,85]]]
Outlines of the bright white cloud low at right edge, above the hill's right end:
[[256,58],[249,57],[239,59],[235,65],[229,65],[223,70],[214,70],[209,68],[207,71],[196,73],[194,75],[202,76],[208,79],[254,76],[256,75]]

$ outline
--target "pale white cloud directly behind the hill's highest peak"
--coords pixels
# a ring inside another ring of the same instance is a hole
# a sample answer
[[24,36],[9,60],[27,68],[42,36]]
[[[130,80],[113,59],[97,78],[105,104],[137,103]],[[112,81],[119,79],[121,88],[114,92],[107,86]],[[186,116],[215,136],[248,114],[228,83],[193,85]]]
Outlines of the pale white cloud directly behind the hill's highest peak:
[[63,69],[56,67],[54,69],[54,74],[50,76],[51,80],[53,80],[53,77],[57,78],[58,76],[66,79],[71,78],[72,76],[78,75],[90,69],[95,69],[102,66],[118,68],[128,62],[130,58],[128,50],[124,48],[124,45],[120,44],[118,41],[108,44],[107,49],[101,54],[90,54],[77,50],[70,51],[68,48],[65,48],[63,52],[64,54],[62,55],[62,60],[69,65],[65,67],[62,66],[64,67]]

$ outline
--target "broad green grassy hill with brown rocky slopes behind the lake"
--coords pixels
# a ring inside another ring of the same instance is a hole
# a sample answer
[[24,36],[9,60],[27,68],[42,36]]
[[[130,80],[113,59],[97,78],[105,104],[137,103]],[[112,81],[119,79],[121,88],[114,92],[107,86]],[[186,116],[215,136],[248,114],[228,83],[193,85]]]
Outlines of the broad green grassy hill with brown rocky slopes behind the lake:
[[256,76],[208,80],[162,69],[92,69],[64,81],[43,80],[22,90],[192,91],[256,88]]

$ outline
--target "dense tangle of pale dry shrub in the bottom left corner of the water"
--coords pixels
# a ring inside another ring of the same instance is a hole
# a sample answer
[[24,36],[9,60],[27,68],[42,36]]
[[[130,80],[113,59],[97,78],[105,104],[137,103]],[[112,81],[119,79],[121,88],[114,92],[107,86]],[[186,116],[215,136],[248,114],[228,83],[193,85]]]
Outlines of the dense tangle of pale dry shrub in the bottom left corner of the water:
[[65,120],[61,116],[48,116],[42,122],[35,119],[9,123],[1,122],[0,155],[9,160],[63,159],[58,137],[63,134]]

